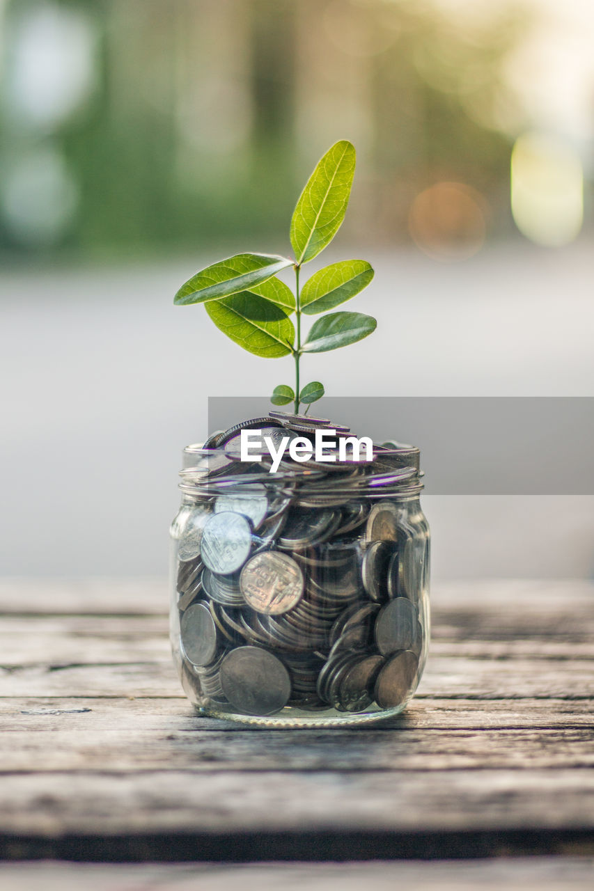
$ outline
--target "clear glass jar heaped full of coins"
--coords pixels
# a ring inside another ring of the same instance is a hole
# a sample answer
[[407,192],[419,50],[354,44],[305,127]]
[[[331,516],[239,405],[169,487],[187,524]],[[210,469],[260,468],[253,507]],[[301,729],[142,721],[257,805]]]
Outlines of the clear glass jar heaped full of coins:
[[336,430],[338,459],[347,429],[274,414],[184,450],[170,529],[171,646],[184,691],[200,715],[266,727],[398,715],[429,638],[418,449],[390,441],[373,456],[342,451],[332,466],[285,456],[270,472],[262,445],[241,461],[241,429],[313,443],[318,427]]

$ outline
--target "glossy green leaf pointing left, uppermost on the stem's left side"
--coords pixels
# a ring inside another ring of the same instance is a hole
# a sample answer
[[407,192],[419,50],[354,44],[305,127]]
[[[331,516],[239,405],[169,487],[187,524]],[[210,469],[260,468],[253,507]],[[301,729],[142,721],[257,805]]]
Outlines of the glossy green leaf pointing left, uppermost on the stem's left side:
[[193,275],[177,291],[173,302],[185,307],[219,300],[260,285],[287,266],[293,266],[292,261],[276,254],[235,254]]

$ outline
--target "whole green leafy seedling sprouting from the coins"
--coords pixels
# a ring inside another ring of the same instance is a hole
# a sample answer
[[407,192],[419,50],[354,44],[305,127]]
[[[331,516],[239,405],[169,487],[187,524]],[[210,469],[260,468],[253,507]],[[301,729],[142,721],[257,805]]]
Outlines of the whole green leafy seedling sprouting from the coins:
[[[375,330],[371,315],[322,315],[301,343],[301,315],[334,309],[363,290],[374,277],[366,260],[341,260],[314,273],[300,290],[301,266],[318,257],[342,225],[355,172],[355,149],[342,140],[318,161],[293,211],[291,244],[295,259],[269,254],[236,254],[207,266],[177,291],[177,306],[203,303],[220,331],[255,356],[277,358],[293,354],[295,387],[273,390],[274,405],[309,405],[324,396],[314,380],[300,389],[304,353],[324,353],[367,337]],[[276,274],[293,266],[295,292]],[[295,323],[291,315],[295,315]],[[306,410],[307,411],[307,410]]]

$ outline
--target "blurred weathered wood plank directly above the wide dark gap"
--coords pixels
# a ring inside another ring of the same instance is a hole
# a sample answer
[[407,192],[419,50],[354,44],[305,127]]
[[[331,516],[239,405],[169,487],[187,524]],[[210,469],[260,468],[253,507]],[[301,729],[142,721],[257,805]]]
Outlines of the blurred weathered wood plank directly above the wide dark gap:
[[215,769],[196,775],[112,773],[105,764],[103,773],[4,775],[0,796],[4,839],[297,833],[305,843],[308,833],[326,831],[344,838],[367,832],[594,831],[594,772],[587,769],[429,775]]

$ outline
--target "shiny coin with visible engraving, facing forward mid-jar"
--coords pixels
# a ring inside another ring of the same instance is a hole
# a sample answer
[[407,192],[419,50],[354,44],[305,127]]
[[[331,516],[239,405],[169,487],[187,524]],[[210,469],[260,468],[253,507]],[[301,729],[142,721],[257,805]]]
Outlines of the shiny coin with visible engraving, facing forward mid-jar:
[[247,561],[239,586],[248,606],[265,616],[279,616],[301,600],[303,574],[288,554],[263,551]]

